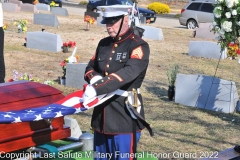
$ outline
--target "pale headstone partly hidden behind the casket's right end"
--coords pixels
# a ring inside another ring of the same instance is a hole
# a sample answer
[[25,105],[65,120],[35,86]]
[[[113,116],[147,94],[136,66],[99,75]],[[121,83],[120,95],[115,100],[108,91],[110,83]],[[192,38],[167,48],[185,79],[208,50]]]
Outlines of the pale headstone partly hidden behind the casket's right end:
[[64,125],[71,129],[71,137],[78,139],[82,135],[82,131],[76,119],[64,116]]

